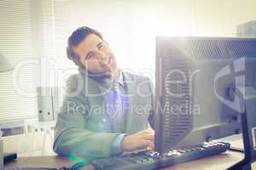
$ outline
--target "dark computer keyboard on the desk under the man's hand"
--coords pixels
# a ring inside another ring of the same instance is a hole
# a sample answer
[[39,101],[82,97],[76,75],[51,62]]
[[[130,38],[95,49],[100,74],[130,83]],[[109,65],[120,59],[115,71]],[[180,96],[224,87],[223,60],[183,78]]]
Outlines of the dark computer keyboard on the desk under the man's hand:
[[96,170],[150,170],[170,167],[177,163],[193,161],[207,156],[214,156],[230,149],[230,144],[211,141],[180,150],[170,150],[160,156],[154,150],[143,150],[123,156],[112,156],[91,161]]

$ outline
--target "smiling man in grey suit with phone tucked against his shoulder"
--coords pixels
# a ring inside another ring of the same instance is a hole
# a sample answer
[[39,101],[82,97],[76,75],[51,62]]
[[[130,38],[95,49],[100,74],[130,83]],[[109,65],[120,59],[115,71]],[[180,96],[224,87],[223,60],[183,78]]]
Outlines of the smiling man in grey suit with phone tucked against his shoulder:
[[67,80],[55,126],[55,152],[95,159],[154,149],[148,78],[121,71],[101,33],[86,26],[68,38],[67,57],[79,66],[79,74]]

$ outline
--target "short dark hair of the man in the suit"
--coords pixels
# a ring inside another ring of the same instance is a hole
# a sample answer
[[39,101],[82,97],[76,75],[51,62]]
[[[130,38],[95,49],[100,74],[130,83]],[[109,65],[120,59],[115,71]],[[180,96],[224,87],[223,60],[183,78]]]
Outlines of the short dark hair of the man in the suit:
[[79,56],[73,52],[73,48],[77,47],[80,42],[84,40],[89,34],[95,34],[103,40],[102,34],[88,26],[82,26],[73,31],[72,35],[68,37],[67,46],[67,58],[73,60],[73,62],[80,68],[84,69],[84,65],[80,62]]

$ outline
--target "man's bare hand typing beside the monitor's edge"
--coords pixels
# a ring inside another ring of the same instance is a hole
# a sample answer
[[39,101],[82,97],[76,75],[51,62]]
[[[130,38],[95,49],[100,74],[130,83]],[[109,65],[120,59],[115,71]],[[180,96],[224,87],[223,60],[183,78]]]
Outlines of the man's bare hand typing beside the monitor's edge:
[[151,128],[125,136],[121,142],[123,151],[140,150],[148,146],[154,150],[154,130]]

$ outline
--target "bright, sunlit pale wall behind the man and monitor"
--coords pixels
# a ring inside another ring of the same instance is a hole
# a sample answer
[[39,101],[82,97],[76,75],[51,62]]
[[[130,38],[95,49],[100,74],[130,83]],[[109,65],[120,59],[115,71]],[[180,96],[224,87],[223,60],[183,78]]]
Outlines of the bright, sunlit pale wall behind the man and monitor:
[[[154,38],[165,36],[236,36],[236,26],[256,20],[254,0],[56,1],[65,6],[66,36],[57,50],[65,57],[70,31],[92,26],[102,31],[121,68],[154,72]],[[67,5],[68,4],[68,5]],[[57,9],[57,8],[56,8]],[[58,11],[58,10],[56,10]],[[55,13],[55,17],[61,16]],[[57,32],[57,31],[55,31]],[[64,35],[62,34],[62,35]],[[68,60],[66,60],[68,65]]]

